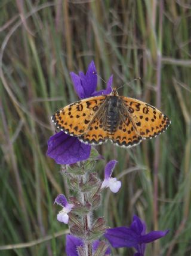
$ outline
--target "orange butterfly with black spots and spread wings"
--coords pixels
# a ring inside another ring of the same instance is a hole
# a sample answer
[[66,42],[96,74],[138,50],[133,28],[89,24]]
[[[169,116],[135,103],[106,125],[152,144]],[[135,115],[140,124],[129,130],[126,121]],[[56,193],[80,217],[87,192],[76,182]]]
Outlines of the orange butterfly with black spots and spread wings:
[[155,107],[134,98],[109,95],[86,98],[69,104],[52,116],[58,129],[76,136],[85,144],[107,140],[131,147],[165,131],[170,119]]

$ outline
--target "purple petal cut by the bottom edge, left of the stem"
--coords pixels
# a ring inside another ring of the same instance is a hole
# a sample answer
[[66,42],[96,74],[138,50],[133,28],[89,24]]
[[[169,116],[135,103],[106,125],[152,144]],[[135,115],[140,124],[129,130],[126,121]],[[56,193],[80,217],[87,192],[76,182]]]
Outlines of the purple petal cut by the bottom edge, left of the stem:
[[78,256],[77,247],[83,246],[80,238],[67,234],[66,236],[66,254],[67,256]]

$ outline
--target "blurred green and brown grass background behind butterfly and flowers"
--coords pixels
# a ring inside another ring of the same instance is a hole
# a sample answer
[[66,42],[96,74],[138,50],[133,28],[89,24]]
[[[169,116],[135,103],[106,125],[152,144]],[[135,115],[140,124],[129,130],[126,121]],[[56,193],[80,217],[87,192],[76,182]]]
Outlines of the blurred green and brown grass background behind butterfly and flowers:
[[[0,11],[0,255],[65,255],[67,226],[53,202],[68,191],[47,140],[51,115],[78,99],[69,72],[86,71],[91,60],[105,80],[113,74],[113,85],[127,85],[121,95],[171,119],[167,132],[132,149],[98,147],[106,161],[119,161],[122,188],[104,194],[97,216],[116,227],[135,213],[148,231],[170,229],[146,255],[190,255],[189,1],[1,0]],[[105,86],[99,79],[98,89]],[[97,165],[101,176],[106,161]]]

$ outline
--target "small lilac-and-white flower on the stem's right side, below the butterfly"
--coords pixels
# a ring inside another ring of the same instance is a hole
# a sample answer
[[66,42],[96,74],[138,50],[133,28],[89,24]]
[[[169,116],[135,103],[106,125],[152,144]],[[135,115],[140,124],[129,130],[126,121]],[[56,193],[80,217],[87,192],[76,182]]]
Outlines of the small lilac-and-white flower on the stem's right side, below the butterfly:
[[109,188],[110,191],[113,193],[116,193],[119,191],[119,188],[121,188],[121,182],[117,180],[116,178],[112,178],[112,172],[115,168],[115,165],[118,161],[112,160],[106,164],[105,171],[104,171],[104,180],[101,184],[101,188]]

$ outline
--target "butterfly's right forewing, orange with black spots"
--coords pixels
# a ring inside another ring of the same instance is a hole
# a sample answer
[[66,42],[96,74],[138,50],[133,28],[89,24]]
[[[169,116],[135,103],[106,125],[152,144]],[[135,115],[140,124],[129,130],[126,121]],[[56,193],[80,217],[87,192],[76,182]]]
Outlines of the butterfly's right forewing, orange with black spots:
[[121,97],[137,133],[143,138],[161,134],[170,125],[170,119],[155,107],[134,98]]

